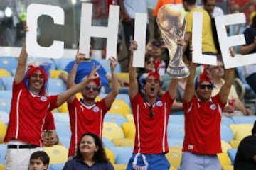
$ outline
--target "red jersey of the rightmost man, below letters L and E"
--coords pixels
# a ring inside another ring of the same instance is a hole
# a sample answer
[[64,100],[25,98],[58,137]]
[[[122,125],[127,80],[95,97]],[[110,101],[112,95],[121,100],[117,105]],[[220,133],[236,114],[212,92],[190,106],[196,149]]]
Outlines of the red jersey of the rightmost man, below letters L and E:
[[210,102],[198,101],[194,96],[191,102],[183,101],[185,115],[185,137],[183,151],[196,154],[221,153],[220,121],[225,103],[216,95]]

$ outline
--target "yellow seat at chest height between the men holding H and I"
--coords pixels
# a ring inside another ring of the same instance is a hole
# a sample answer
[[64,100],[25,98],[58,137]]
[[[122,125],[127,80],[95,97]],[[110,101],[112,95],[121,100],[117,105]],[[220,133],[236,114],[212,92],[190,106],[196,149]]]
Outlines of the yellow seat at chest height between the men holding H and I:
[[125,115],[131,113],[131,108],[124,101],[115,100],[114,103],[112,103],[110,111],[108,111],[107,113],[118,113],[118,114],[123,115],[125,117]]

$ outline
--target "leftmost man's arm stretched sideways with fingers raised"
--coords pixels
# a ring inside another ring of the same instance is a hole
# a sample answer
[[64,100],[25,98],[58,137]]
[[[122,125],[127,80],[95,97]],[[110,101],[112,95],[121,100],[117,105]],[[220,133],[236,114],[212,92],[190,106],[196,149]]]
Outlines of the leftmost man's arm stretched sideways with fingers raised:
[[79,84],[75,84],[75,86],[71,86],[70,89],[64,91],[62,94],[58,95],[57,98],[57,106],[60,106],[65,101],[68,101],[68,98],[75,95],[79,91],[82,91],[82,89],[87,86],[87,84],[92,81],[93,79],[97,79],[99,77],[99,74],[97,74],[97,70],[100,68],[100,65],[96,69],[92,69],[92,72],[90,73],[90,76],[87,77],[87,79],[84,79]]

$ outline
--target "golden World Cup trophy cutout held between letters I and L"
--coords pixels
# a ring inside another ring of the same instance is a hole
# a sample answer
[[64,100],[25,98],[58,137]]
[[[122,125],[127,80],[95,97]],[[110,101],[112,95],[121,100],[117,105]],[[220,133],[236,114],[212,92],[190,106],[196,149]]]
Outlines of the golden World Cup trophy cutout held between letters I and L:
[[170,77],[188,77],[189,70],[183,62],[182,41],[186,19],[180,8],[172,4],[162,6],[156,18],[161,36],[169,51],[170,61],[167,74]]

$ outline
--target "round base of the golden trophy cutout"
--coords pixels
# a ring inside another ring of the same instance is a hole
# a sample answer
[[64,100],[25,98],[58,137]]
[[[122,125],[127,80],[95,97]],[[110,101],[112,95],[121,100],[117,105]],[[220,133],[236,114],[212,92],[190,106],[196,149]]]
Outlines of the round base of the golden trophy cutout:
[[190,72],[187,67],[168,67],[166,73],[169,77],[182,79],[188,77]]

